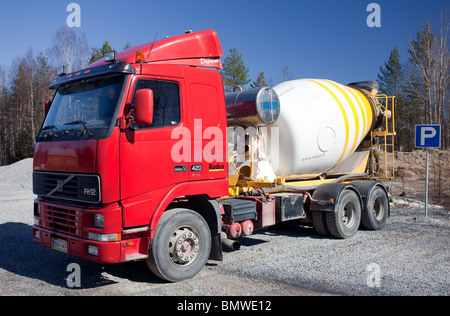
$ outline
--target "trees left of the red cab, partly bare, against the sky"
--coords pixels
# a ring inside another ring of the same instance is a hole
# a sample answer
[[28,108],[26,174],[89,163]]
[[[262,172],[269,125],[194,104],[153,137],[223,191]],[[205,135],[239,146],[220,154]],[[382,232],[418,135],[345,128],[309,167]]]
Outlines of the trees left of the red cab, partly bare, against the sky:
[[54,94],[48,86],[58,67],[65,65],[68,72],[85,68],[111,50],[108,42],[101,48],[89,47],[85,34],[61,27],[45,52],[36,55],[28,49],[14,59],[9,71],[0,68],[0,165],[33,156],[45,102]]

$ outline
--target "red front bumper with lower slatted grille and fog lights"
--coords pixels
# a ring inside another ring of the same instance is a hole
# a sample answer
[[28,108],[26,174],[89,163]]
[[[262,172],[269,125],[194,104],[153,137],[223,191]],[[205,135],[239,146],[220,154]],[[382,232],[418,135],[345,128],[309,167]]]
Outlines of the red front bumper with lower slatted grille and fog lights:
[[[38,225],[33,225],[33,239],[38,244],[99,263],[120,263],[148,257],[150,238],[127,235],[122,231],[118,205],[83,209],[40,200],[35,200],[35,203],[39,204],[40,212],[36,214],[35,211]],[[105,229],[93,228],[92,214],[104,215]],[[89,233],[110,234],[118,231],[121,234],[117,241],[89,239]]]

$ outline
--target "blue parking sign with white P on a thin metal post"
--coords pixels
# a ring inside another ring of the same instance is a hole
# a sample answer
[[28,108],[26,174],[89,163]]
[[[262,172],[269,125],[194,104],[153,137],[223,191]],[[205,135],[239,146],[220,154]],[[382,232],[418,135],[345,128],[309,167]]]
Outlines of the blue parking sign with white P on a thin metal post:
[[428,217],[428,154],[430,148],[441,147],[441,125],[416,125],[416,148],[427,149],[425,176],[425,217]]

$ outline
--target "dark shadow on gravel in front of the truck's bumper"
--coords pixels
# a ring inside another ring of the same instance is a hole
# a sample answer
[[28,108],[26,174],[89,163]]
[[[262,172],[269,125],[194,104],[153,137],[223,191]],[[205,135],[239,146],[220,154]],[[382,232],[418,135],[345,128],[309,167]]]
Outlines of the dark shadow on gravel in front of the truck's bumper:
[[150,272],[144,261],[103,265],[36,244],[32,238],[32,227],[23,223],[0,225],[0,249],[0,269],[66,289],[69,289],[66,278],[73,272],[67,271],[71,263],[80,265],[81,289],[118,283],[111,280],[111,276],[112,279],[117,277],[134,282],[162,283]]

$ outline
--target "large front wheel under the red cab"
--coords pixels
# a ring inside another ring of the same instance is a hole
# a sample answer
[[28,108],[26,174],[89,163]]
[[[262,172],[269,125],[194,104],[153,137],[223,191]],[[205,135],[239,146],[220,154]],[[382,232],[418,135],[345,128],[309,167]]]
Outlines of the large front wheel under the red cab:
[[204,218],[188,209],[172,209],[159,220],[147,265],[156,276],[179,282],[197,275],[210,252],[211,233]]

